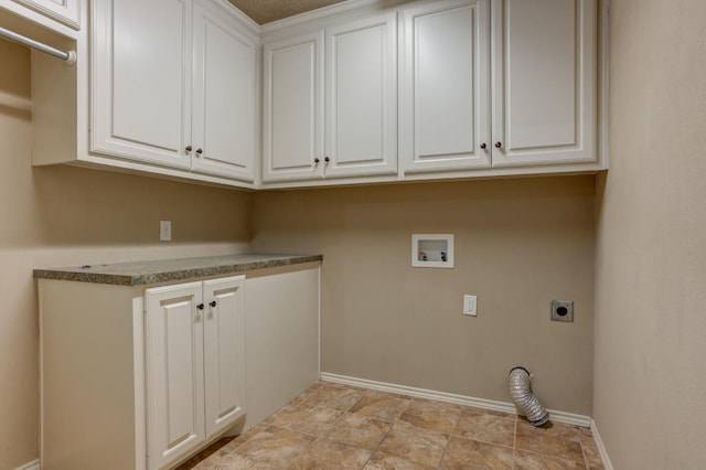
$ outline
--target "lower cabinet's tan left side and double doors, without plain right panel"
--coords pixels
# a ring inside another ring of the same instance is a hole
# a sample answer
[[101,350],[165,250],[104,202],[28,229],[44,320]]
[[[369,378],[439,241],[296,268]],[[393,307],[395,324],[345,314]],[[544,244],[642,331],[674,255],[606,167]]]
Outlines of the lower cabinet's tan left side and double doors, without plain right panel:
[[42,468],[172,468],[245,416],[245,276],[39,291]]

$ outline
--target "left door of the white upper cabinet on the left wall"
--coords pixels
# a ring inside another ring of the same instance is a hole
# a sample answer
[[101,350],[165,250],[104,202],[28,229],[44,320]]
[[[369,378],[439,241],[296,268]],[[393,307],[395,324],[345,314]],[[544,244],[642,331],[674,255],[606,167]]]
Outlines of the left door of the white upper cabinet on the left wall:
[[95,0],[92,132],[95,152],[189,168],[189,0]]

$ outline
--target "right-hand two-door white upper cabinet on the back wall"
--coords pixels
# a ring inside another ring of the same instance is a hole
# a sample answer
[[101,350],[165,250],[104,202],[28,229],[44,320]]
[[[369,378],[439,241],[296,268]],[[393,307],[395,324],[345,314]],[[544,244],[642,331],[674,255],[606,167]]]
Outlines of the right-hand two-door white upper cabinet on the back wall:
[[598,160],[595,0],[431,1],[400,14],[407,178]]

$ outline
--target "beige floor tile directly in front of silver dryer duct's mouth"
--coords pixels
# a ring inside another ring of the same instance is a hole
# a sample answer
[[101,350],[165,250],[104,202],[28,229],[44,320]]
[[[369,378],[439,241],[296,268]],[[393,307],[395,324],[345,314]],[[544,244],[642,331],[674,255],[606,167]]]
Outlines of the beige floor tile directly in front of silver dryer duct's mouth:
[[524,419],[517,419],[515,448],[584,463],[578,428],[563,423],[549,421],[534,427]]

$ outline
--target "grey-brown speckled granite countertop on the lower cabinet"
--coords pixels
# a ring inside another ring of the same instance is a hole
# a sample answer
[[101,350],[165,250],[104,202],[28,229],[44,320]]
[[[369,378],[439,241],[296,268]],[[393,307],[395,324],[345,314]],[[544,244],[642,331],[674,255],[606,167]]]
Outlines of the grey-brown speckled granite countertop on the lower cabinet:
[[321,261],[322,255],[226,255],[34,269],[35,279],[142,286]]

